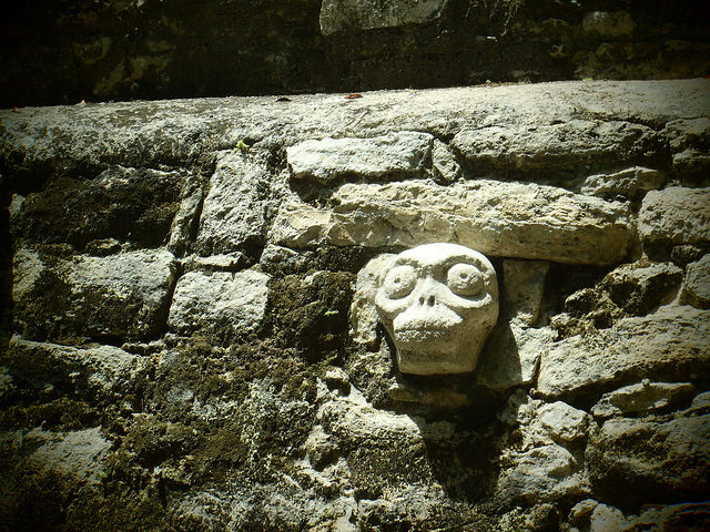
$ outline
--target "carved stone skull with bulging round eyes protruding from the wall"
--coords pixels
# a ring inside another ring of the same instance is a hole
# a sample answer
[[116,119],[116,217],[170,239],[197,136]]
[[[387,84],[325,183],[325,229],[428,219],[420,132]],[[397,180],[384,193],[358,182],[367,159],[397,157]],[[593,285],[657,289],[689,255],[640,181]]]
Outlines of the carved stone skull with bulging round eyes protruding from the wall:
[[496,270],[457,244],[418,246],[393,258],[375,306],[402,372],[473,371],[498,319]]

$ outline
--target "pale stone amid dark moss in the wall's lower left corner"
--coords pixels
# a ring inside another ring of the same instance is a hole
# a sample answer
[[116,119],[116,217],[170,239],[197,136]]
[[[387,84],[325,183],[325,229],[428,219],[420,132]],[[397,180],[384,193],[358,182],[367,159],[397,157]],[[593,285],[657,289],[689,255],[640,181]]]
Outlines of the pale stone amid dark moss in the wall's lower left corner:
[[30,460],[42,469],[68,473],[79,482],[97,485],[110,450],[111,442],[98,428],[52,432]]

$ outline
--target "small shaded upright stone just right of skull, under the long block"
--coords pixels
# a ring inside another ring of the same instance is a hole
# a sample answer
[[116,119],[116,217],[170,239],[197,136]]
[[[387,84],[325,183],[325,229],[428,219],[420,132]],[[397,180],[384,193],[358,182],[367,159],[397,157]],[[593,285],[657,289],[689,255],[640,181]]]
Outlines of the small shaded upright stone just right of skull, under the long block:
[[537,321],[549,267],[542,260],[503,262],[503,294],[508,316],[516,317],[526,325]]

